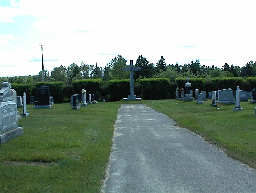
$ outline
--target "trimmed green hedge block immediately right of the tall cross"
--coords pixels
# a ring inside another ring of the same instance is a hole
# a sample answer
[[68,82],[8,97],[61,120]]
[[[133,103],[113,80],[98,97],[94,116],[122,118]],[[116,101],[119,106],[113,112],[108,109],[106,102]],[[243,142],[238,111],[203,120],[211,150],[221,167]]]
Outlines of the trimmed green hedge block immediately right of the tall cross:
[[168,99],[168,78],[140,79],[142,86],[142,99]]

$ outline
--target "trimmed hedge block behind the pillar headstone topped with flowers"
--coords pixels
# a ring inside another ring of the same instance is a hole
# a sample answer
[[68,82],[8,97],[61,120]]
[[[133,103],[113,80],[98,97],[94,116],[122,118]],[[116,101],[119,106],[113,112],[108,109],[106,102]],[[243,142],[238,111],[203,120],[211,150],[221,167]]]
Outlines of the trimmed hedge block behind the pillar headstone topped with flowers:
[[[81,90],[86,89],[86,94],[94,94],[95,100],[99,99],[100,87],[102,86],[101,79],[83,79],[72,81],[73,93],[81,94]],[[88,98],[87,98],[88,99]]]

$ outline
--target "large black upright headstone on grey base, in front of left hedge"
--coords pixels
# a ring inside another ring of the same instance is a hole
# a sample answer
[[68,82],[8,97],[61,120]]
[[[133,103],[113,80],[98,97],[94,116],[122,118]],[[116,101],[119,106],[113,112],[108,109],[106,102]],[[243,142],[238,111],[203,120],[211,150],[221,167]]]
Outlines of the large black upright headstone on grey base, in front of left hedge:
[[49,86],[39,86],[37,88],[38,94],[38,105],[34,105],[34,109],[44,109],[44,108],[51,108],[50,105],[50,88]]

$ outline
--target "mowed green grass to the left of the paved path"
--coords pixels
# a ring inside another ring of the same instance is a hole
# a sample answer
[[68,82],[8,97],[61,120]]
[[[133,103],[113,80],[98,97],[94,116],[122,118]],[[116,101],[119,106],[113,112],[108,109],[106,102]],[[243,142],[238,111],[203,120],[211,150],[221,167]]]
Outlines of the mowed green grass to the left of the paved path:
[[98,192],[119,106],[27,105],[23,135],[0,146],[0,192]]

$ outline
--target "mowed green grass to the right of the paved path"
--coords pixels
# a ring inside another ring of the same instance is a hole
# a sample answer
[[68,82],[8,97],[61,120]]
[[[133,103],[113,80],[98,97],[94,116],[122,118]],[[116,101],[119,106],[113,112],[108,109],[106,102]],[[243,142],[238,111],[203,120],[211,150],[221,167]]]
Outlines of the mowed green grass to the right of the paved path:
[[178,100],[145,103],[175,120],[178,126],[215,144],[233,159],[256,169],[256,104],[250,100],[240,103],[242,111],[234,111],[234,104],[212,107],[210,99],[203,104]]

